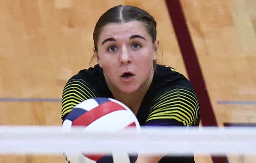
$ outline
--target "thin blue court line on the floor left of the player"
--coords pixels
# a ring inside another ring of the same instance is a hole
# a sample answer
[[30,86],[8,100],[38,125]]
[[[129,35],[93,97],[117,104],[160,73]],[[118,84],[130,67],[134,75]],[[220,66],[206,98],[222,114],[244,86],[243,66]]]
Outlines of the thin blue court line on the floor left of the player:
[[0,102],[61,102],[61,99],[51,98],[0,98]]

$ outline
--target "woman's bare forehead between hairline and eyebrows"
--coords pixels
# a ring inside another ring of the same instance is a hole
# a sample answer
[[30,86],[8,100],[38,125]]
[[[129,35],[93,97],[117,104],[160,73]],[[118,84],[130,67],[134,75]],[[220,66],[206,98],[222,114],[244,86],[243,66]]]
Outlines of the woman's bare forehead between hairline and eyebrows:
[[139,21],[131,21],[126,23],[109,23],[104,26],[100,32],[99,40],[113,37],[116,40],[129,38],[132,35],[142,35],[150,38],[146,27]]

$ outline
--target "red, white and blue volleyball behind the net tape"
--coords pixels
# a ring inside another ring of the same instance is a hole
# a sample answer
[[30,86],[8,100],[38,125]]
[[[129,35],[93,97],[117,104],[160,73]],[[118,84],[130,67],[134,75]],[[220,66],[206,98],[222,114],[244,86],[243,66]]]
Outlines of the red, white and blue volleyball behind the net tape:
[[[84,126],[85,130],[117,131],[127,127],[141,127],[135,114],[123,103],[111,98],[97,97],[79,103],[65,118],[62,128],[71,130],[72,126]],[[69,155],[68,163],[130,163],[127,153],[107,153],[106,155]]]

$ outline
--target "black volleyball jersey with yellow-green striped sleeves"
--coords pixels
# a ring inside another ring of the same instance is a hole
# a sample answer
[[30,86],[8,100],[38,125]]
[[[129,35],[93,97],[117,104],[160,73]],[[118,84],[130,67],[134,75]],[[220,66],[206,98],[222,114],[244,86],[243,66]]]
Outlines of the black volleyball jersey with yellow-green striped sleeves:
[[[110,97],[103,69],[99,65],[81,70],[68,80],[62,95],[61,118],[84,100]],[[198,126],[199,104],[191,83],[171,67],[157,64],[154,77],[136,115],[141,126]],[[191,163],[193,157],[164,157],[160,162]],[[160,163],[159,162],[159,163]]]

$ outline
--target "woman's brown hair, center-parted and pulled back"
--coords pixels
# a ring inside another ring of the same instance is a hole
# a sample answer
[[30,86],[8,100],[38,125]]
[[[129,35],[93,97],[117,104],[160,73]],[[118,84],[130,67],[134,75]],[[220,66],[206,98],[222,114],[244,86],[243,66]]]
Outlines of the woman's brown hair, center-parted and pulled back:
[[[147,33],[151,36],[152,42],[156,41],[156,21],[153,16],[150,15],[145,10],[142,10],[138,7],[129,6],[129,5],[118,5],[107,10],[96,23],[93,32],[93,41],[94,41],[94,51],[97,52],[97,42],[99,41],[99,34],[103,26],[108,23],[125,23],[130,21],[140,21],[142,22],[147,30]],[[93,54],[90,59],[90,63],[95,58]],[[156,67],[156,61],[153,61],[154,68]]]

